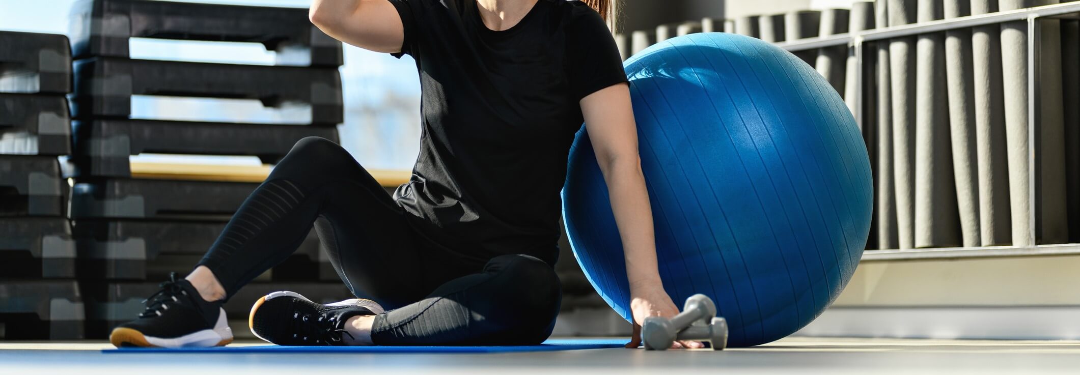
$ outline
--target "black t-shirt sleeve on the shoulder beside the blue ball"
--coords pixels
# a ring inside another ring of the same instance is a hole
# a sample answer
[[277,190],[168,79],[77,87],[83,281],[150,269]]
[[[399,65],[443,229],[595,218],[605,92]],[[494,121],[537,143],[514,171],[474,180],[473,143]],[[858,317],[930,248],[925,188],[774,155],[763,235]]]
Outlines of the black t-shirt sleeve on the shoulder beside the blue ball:
[[584,5],[576,8],[568,31],[568,78],[577,99],[626,82],[619,48],[599,13]]

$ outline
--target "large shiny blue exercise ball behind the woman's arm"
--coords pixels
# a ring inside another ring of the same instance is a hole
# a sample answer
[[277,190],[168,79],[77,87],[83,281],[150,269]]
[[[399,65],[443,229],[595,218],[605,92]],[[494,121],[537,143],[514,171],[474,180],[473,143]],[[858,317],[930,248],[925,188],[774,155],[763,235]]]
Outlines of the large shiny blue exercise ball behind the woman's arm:
[[[679,308],[713,298],[733,347],[810,323],[869,235],[869,157],[843,101],[795,55],[739,35],[670,39],[625,69],[664,290]],[[578,263],[630,320],[622,242],[584,128],[563,202]]]

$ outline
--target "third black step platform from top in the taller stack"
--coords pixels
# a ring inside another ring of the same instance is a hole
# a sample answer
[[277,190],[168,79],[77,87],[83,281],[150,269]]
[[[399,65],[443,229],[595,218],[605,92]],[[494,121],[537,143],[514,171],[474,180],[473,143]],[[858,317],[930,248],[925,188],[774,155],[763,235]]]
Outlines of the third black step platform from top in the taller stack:
[[86,120],[72,129],[76,176],[131,177],[129,157],[143,152],[256,156],[273,164],[303,137],[338,142],[334,126]]

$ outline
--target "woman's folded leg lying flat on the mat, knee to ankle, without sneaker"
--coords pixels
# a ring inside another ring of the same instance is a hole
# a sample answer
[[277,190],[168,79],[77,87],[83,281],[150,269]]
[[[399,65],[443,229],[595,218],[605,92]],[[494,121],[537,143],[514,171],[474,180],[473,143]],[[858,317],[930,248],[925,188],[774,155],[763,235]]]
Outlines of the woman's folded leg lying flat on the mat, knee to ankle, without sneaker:
[[528,255],[502,255],[420,302],[355,317],[346,329],[356,344],[537,345],[555,326],[561,296],[551,266]]

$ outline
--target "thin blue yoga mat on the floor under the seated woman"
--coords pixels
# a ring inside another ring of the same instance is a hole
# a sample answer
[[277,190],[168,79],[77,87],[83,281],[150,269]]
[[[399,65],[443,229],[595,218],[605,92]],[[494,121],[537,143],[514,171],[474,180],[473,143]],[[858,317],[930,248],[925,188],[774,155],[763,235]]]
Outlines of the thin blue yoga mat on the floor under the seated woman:
[[224,346],[215,348],[120,348],[105,349],[104,353],[495,353],[522,351],[554,351],[580,349],[622,348],[626,338],[549,339],[532,346]]

